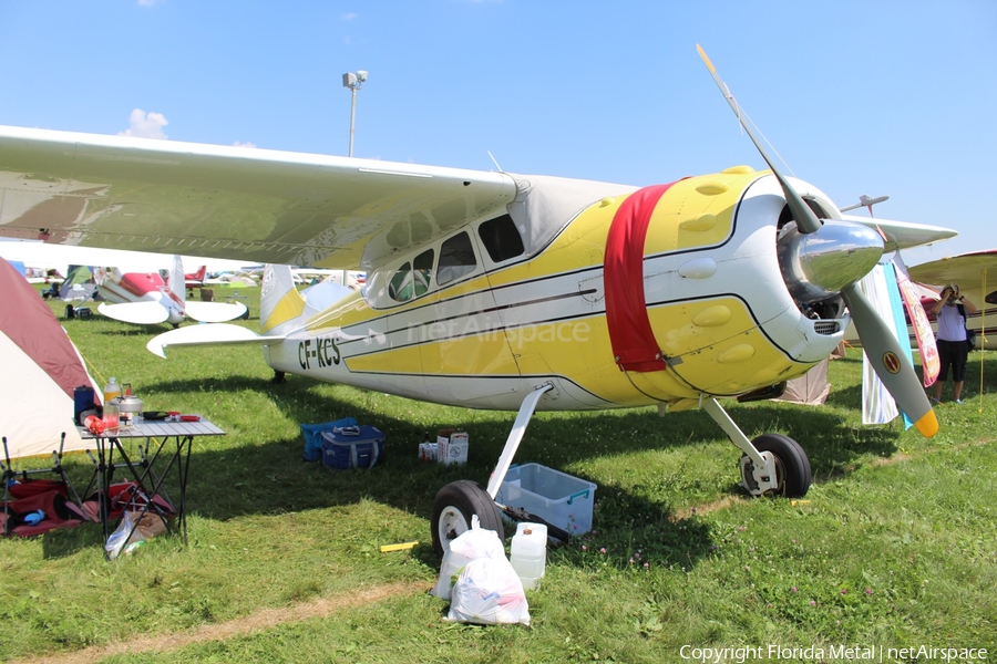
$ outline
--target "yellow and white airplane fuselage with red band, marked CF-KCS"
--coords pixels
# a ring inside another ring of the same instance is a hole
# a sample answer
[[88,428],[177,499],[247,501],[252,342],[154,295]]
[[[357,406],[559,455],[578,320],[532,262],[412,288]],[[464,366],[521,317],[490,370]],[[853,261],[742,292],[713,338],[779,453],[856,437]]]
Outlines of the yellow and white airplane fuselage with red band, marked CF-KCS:
[[[395,302],[388,291],[409,264],[401,258],[362,293],[285,329],[267,362],[484,408],[515,409],[551,382],[543,407],[575,409],[740,395],[802,374],[839,344],[847,314],[808,317],[787,290],[777,256],[784,200],[771,177],[743,168],[674,183],[647,204],[643,238],[620,226],[641,191],[579,205],[542,251],[497,266],[473,225],[475,269],[464,278],[440,287],[436,263],[420,297]],[[636,256],[637,273],[607,260],[614,242],[618,263]],[[643,305],[621,298],[634,288]],[[649,340],[634,334],[645,322]],[[621,357],[641,341],[658,356]]]

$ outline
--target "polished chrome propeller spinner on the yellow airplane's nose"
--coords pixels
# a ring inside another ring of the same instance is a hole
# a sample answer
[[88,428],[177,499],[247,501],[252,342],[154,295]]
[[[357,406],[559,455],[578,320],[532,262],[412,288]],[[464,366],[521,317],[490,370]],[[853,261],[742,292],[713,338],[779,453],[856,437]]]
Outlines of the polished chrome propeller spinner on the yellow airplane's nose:
[[779,237],[779,263],[800,302],[816,302],[855,283],[883,256],[880,235],[861,224],[825,220],[814,232],[788,225]]

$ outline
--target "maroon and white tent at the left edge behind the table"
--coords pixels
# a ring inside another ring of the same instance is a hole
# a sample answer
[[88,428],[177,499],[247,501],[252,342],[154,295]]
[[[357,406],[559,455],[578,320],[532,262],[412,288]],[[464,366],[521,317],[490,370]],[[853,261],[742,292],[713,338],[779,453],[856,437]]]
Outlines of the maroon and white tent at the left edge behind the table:
[[0,259],[0,436],[11,458],[92,447],[73,426],[73,391],[90,385],[83,359],[55,314],[6,260]]

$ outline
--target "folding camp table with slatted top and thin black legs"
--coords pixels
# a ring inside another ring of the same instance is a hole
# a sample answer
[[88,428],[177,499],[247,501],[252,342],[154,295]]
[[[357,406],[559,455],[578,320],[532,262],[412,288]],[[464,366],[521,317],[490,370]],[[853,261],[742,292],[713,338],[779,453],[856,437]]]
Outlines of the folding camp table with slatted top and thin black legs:
[[[191,448],[198,436],[224,436],[225,432],[208,422],[158,422],[144,421],[129,427],[107,429],[102,434],[93,434],[80,427],[80,436],[91,439],[96,446],[94,459],[97,495],[100,500],[100,518],[104,525],[104,541],[112,532],[110,523],[110,500],[107,488],[114,479],[116,469],[126,470],[135,480],[137,489],[147,498],[138,511],[146,513],[160,509],[154,498],[164,495],[176,513],[176,523],[184,533],[187,543],[187,475],[191,467]],[[123,440],[145,438],[145,448],[140,445],[140,458],[133,460],[122,444]],[[173,439],[174,445],[167,445]],[[119,459],[115,460],[115,454]],[[160,464],[162,471],[156,470]],[[179,491],[178,501],[173,502],[165,495],[165,479],[171,471],[176,473]],[[137,520],[136,520],[137,525]],[[133,529],[134,530],[134,529]],[[131,537],[131,533],[130,536]]]

